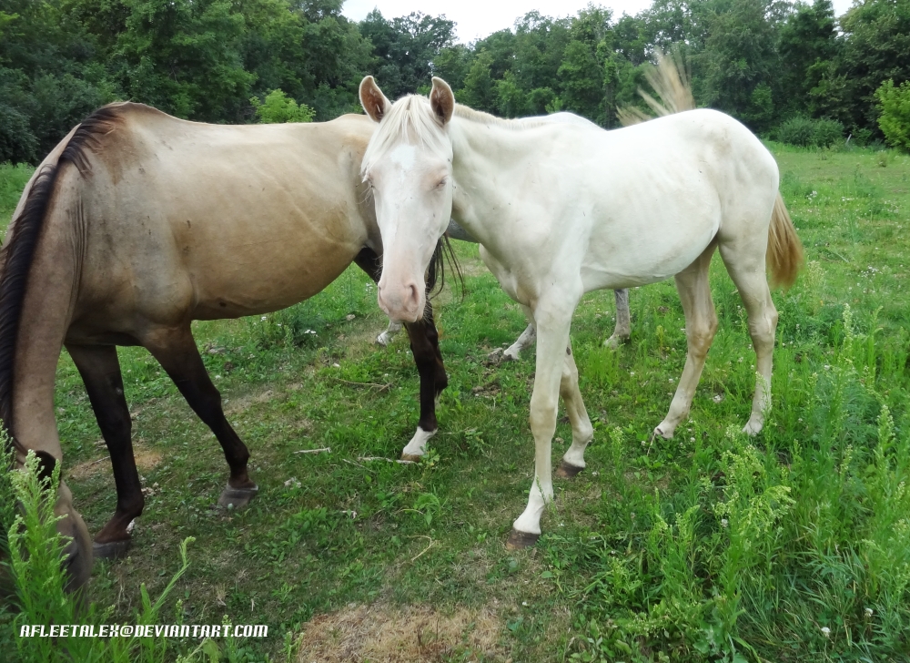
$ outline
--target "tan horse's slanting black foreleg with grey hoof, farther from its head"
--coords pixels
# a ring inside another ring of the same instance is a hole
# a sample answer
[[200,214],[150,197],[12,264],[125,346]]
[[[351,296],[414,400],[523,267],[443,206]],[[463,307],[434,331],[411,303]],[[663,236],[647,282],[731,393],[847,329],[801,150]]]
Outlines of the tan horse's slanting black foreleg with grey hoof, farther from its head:
[[174,381],[199,419],[215,433],[224,450],[230,477],[227,479],[227,487],[218,497],[218,505],[233,505],[235,508],[248,505],[258,493],[258,486],[247,474],[249,451],[230,423],[227,423],[221,408],[221,394],[208,377],[189,325],[156,330],[143,340],[143,345]]

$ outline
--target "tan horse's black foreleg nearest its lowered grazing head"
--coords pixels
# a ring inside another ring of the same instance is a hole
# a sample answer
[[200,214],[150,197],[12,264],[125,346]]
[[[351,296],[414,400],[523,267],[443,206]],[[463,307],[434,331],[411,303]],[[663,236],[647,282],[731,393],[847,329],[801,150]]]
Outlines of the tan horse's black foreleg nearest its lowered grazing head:
[[127,527],[142,515],[146,501],[133,456],[133,424],[126,405],[116,347],[67,345],[66,350],[86,384],[88,401],[92,403],[114,470],[116,509],[95,537],[95,556],[122,557],[131,546]]

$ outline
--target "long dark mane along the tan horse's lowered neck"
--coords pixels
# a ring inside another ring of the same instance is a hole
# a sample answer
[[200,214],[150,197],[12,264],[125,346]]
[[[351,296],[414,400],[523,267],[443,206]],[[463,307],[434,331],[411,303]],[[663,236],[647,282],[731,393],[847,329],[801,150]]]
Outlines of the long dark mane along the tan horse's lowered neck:
[[13,219],[9,241],[0,250],[0,419],[9,439],[18,451],[25,452],[13,435],[13,377],[15,345],[19,332],[19,317],[25,299],[28,271],[35,248],[44,227],[47,208],[54,194],[57,175],[64,163],[72,163],[79,173],[91,174],[86,148],[97,152],[101,138],[113,131],[121,119],[123,104],[99,108],[86,117],[69,139],[56,163],[41,167],[25,199],[22,213]]

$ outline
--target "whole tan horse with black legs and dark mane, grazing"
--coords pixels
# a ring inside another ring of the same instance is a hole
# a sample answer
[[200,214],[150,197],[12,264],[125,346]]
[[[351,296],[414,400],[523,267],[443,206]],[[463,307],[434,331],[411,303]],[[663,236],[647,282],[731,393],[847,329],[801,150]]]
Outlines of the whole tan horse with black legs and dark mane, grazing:
[[[257,486],[222,411],[190,321],[236,318],[313,296],[352,260],[379,279],[381,241],[359,167],[368,117],[321,124],[204,125],[125,103],[70,132],[28,183],[0,260],[0,413],[26,449],[62,458],[54,418],[61,348],[86,382],[114,465],[116,512],[96,554],[122,554],[143,496],[116,345],[142,345],[224,449],[221,505]],[[421,378],[421,433],[436,430],[447,380],[432,311],[409,323]],[[61,485],[70,568],[91,569],[85,525]]]

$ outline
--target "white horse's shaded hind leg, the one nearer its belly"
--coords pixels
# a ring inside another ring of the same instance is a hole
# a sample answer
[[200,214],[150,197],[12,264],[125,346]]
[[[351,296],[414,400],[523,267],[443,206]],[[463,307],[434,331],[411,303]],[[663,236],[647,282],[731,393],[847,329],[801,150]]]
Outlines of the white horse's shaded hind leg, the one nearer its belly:
[[682,311],[685,312],[687,352],[670,411],[654,429],[655,435],[667,439],[672,438],[676,426],[689,414],[695,389],[702,377],[705,358],[717,331],[717,314],[708,282],[708,268],[713,252],[712,244],[689,267],[676,275],[676,290],[680,293]]

